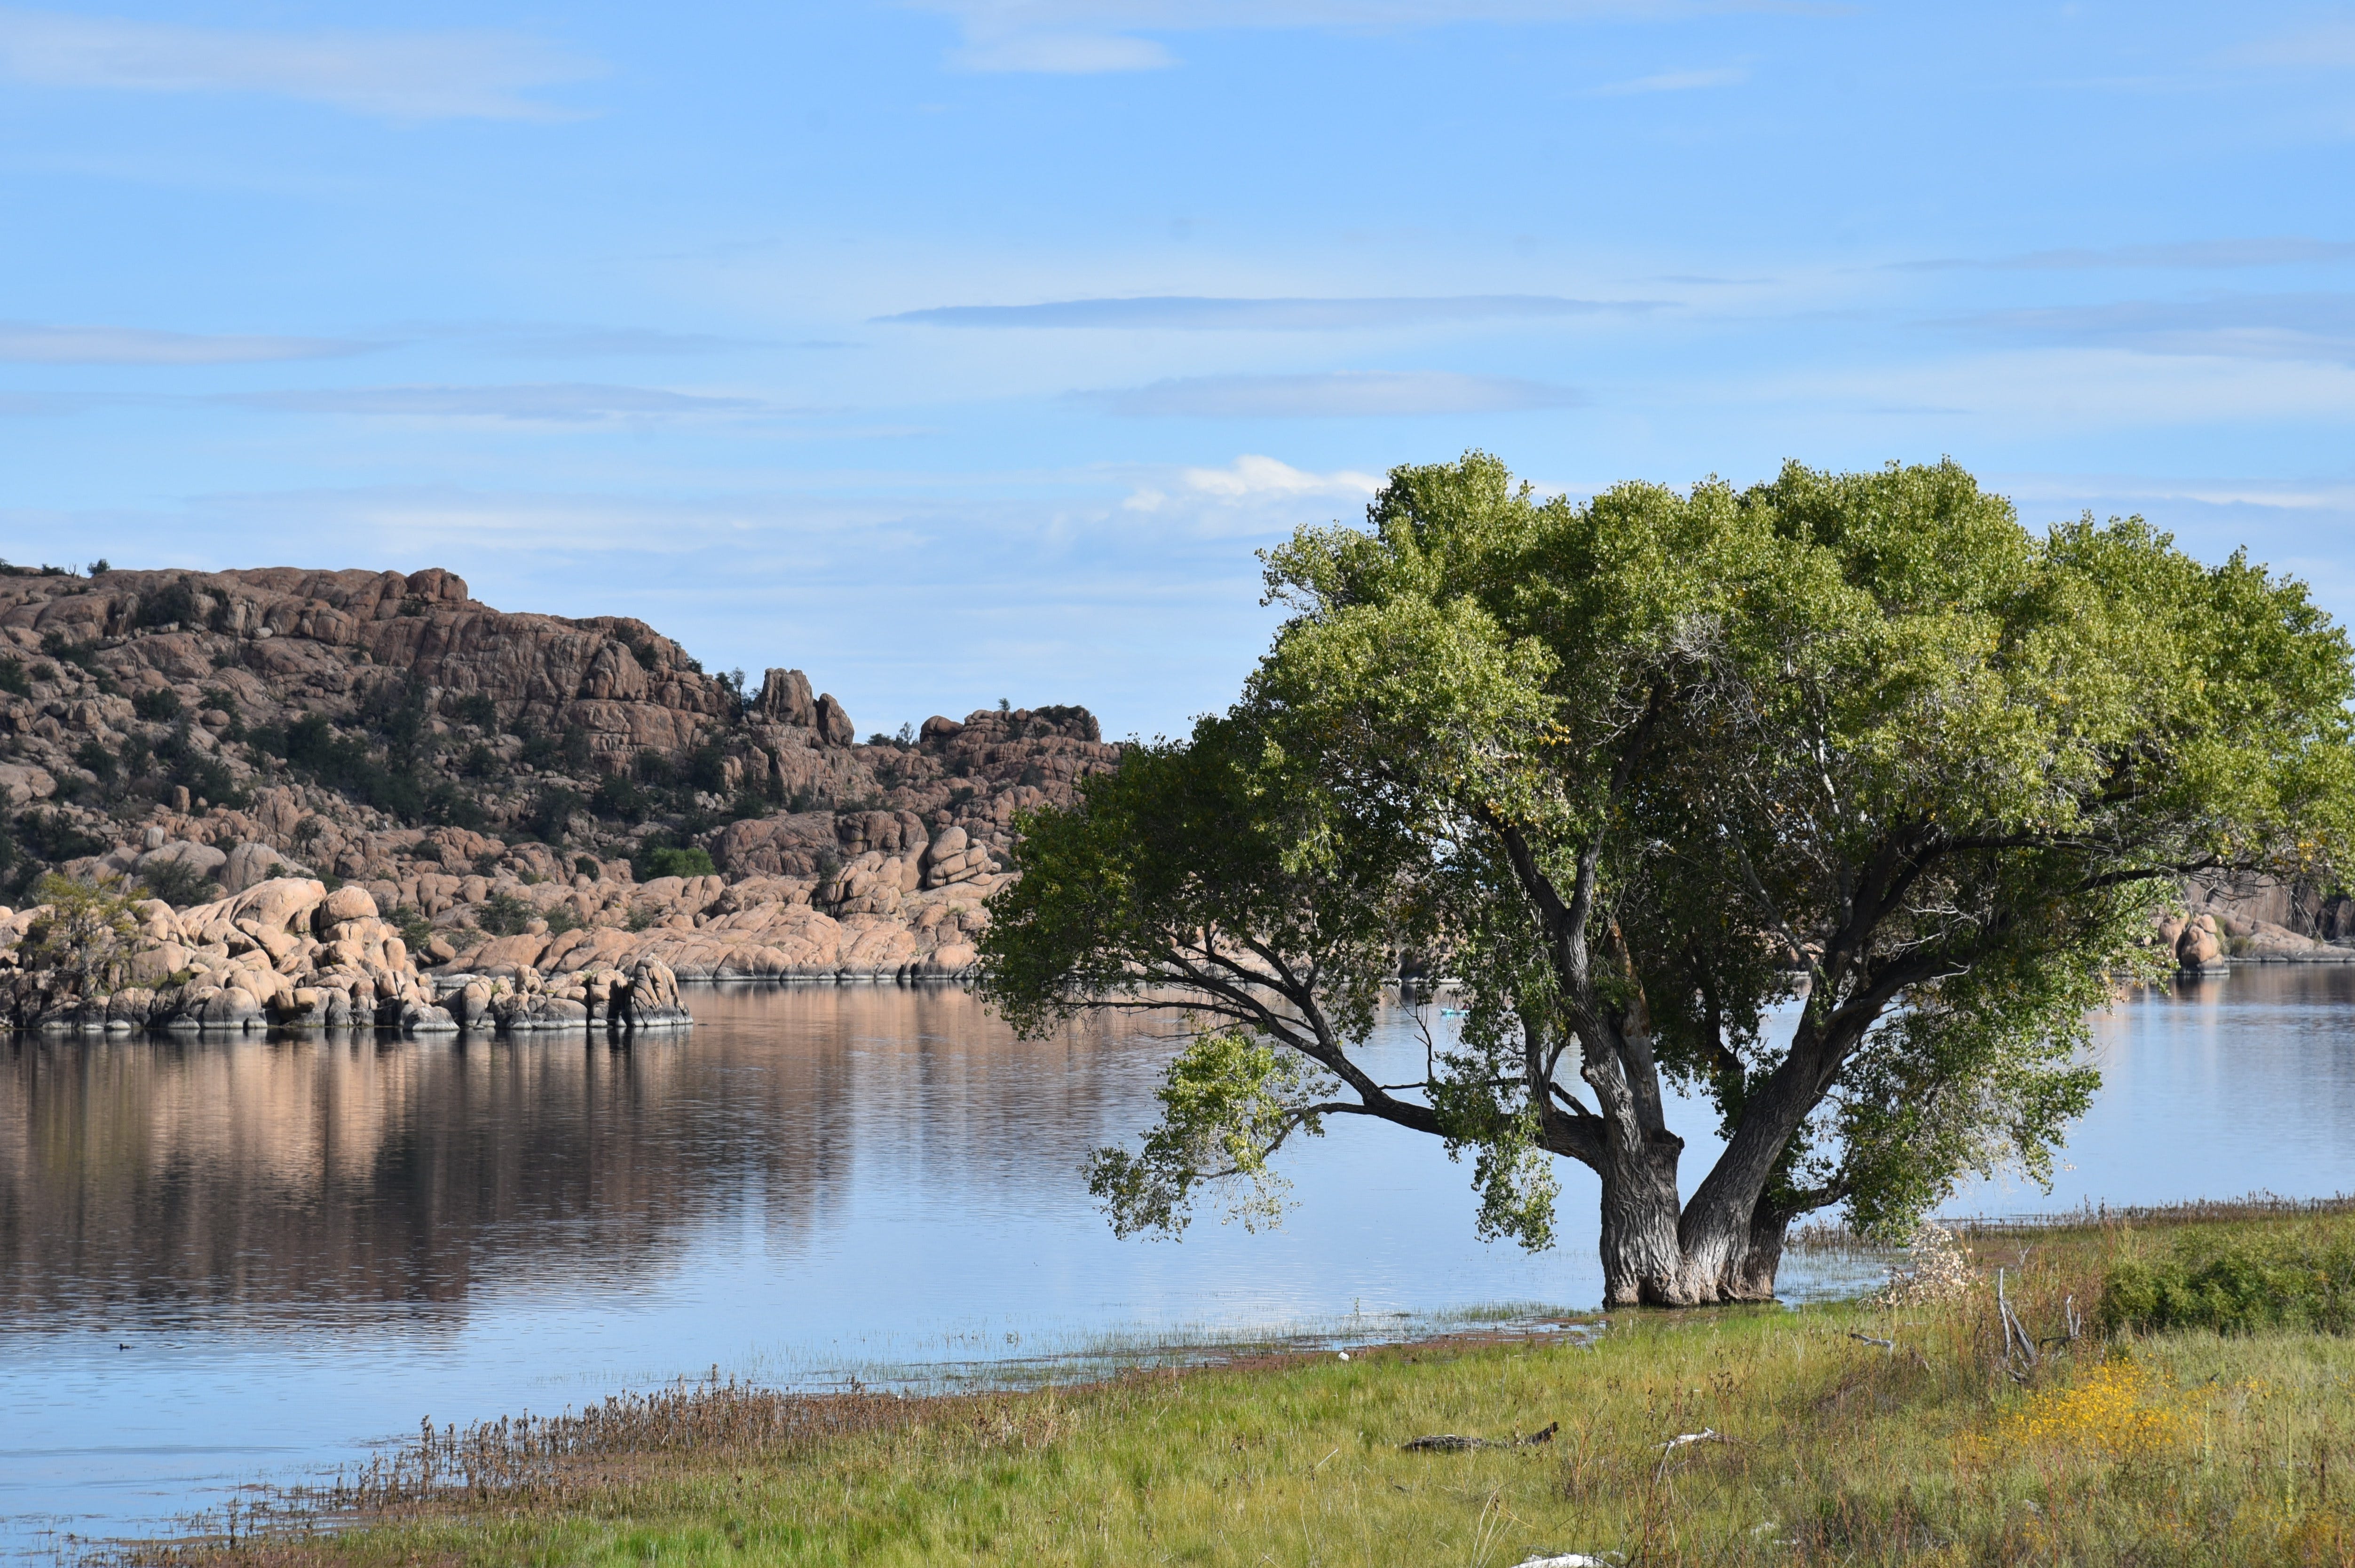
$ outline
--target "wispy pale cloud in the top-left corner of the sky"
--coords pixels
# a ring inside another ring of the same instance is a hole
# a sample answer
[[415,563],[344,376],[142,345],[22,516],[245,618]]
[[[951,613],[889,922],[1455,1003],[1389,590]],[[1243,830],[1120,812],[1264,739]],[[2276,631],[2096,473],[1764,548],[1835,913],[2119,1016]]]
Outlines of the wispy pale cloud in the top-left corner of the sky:
[[596,75],[506,33],[259,33],[0,7],[0,78],[120,92],[261,92],[391,120],[553,120],[535,87]]

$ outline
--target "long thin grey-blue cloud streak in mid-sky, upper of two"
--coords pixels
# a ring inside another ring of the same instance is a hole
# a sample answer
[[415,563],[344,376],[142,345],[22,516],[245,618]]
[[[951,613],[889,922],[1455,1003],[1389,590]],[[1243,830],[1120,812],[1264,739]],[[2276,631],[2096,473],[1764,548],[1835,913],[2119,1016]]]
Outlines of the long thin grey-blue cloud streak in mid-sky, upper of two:
[[1660,308],[1658,299],[1561,299],[1554,294],[1441,294],[1397,299],[1050,299],[1027,306],[930,306],[878,315],[923,327],[1112,327],[1145,332],[1354,332],[1540,315],[1604,315]]

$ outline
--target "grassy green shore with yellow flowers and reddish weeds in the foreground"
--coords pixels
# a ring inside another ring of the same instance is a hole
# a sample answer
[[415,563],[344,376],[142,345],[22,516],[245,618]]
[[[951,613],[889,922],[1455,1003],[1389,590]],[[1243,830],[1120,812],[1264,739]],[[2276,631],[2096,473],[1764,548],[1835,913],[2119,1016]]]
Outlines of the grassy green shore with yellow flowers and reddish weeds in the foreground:
[[678,1384],[429,1427],[106,1556],[2355,1561],[2355,1198],[1973,1222],[1868,1297],[1587,1323],[1027,1391]]

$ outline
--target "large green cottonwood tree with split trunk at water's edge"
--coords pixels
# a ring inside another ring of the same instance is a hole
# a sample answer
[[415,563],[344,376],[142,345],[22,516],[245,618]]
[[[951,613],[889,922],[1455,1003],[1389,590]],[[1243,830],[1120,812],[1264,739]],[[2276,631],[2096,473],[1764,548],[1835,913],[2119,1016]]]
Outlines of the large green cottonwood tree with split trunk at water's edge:
[[[1955,464],[1571,504],[1470,454],[1267,584],[1234,709],[1029,817],[991,902],[1017,1026],[1189,1008],[1161,1125],[1090,1170],[1123,1231],[1203,1184],[1269,1212],[1286,1137],[1371,1116],[1472,1154],[1533,1248],[1590,1168],[1613,1304],[1759,1300],[1804,1212],[2044,1180],[2181,878],[2327,876],[2355,829],[2303,584],[2030,532]],[[1465,998],[1411,1085],[1364,1064],[1401,956]],[[1686,1203],[1670,1088],[1724,1140]]]

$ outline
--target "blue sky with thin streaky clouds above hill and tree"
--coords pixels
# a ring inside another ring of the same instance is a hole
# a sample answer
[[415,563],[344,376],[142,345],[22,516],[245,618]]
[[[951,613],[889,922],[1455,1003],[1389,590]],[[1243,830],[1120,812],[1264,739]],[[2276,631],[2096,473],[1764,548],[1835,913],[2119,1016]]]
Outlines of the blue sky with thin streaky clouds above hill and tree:
[[2355,7],[0,5],[0,556],[1175,735],[1255,551],[1955,457],[2355,612]]

